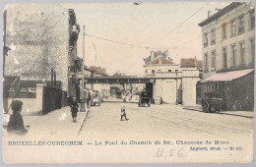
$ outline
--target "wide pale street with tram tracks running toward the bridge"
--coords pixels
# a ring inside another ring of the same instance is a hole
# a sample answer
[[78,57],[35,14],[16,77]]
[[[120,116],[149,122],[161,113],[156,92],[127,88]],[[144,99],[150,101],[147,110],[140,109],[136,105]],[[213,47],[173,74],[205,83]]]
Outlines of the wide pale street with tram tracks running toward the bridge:
[[122,103],[92,107],[80,136],[95,139],[252,139],[253,118],[184,110],[163,104],[138,107],[126,103],[128,121],[120,121]]

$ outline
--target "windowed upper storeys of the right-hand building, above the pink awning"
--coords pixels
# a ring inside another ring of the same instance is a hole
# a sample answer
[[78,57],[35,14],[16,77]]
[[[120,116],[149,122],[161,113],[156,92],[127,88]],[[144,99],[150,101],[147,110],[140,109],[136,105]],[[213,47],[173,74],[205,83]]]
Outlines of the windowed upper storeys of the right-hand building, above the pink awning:
[[233,2],[201,22],[203,78],[254,68],[255,12],[251,2]]

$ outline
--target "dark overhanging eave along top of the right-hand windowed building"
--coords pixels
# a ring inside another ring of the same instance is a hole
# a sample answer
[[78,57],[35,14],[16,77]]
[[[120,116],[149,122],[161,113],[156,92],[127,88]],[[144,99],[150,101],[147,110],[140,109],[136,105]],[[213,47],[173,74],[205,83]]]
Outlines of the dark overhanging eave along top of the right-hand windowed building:
[[224,7],[224,9],[222,9],[221,11],[219,11],[218,13],[214,14],[212,17],[209,17],[208,19],[204,20],[203,22],[201,22],[200,24],[198,24],[198,26],[203,27],[204,25],[206,25],[208,22],[215,20],[218,17],[223,16],[225,13],[231,11],[232,9],[238,7],[239,5],[241,5],[242,2],[232,2],[229,5],[227,5],[226,7]]

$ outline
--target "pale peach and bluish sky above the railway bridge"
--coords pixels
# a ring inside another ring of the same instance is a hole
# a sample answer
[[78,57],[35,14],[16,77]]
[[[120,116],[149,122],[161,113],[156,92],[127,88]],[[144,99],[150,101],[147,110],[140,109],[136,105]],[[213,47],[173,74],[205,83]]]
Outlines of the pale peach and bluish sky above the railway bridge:
[[144,74],[143,59],[151,50],[168,50],[179,64],[180,58],[202,59],[202,30],[198,24],[230,2],[158,2],[158,3],[72,3],[81,27],[78,56],[83,57],[83,27],[86,34],[123,43],[118,44],[85,36],[85,65],[100,66],[109,75],[121,72],[129,76]]

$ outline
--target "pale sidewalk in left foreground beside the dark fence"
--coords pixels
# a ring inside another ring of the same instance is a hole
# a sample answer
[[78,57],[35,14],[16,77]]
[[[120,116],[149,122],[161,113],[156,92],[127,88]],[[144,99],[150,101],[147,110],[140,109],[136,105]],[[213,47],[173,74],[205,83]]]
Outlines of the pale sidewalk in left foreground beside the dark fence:
[[43,116],[23,116],[24,125],[30,125],[30,130],[26,137],[78,136],[86,113],[87,112],[78,112],[76,123],[72,122],[69,106],[51,111]]

